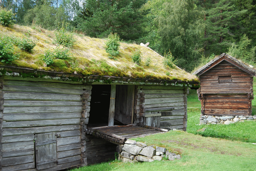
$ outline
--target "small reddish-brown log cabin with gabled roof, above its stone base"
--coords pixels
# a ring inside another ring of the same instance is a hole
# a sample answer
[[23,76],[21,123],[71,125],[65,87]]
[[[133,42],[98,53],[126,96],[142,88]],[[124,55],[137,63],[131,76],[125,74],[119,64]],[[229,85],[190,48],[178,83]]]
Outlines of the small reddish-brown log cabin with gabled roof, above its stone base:
[[195,71],[201,115],[252,115],[253,76],[256,70],[228,54],[221,54]]

